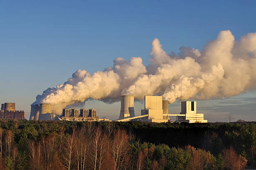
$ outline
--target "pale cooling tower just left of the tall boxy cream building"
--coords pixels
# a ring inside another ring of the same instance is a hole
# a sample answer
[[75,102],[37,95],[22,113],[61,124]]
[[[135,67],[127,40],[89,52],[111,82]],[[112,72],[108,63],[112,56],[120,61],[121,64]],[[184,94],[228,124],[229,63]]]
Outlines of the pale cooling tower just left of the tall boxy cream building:
[[121,109],[119,119],[135,117],[134,114],[134,97],[130,95],[121,96]]

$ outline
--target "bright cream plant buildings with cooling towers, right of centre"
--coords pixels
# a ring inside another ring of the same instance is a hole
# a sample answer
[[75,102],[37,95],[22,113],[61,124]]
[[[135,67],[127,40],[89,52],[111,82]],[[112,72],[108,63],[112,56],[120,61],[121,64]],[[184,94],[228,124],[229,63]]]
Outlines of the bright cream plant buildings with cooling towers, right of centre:
[[144,109],[141,116],[135,117],[134,97],[131,95],[121,96],[121,110],[117,121],[143,121],[143,122],[169,122],[169,116],[176,116],[177,122],[207,123],[204,114],[197,113],[196,101],[182,101],[179,114],[169,114],[168,100],[162,96],[144,96]]

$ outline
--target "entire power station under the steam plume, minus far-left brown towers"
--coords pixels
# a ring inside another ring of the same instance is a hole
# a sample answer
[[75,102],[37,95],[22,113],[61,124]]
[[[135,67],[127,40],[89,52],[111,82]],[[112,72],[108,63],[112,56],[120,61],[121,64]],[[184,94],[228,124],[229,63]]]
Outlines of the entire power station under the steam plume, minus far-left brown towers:
[[[3,106],[2,106],[3,107]],[[143,121],[143,122],[173,122],[169,117],[176,116],[176,122],[207,123],[204,114],[197,113],[196,101],[182,101],[179,114],[169,114],[168,100],[162,96],[144,96],[144,109],[140,116],[135,116],[134,96],[122,95],[121,108],[118,122]],[[99,119],[95,109],[62,109],[62,114],[51,111],[50,104],[31,105],[30,120],[68,120],[68,121],[109,121]]]

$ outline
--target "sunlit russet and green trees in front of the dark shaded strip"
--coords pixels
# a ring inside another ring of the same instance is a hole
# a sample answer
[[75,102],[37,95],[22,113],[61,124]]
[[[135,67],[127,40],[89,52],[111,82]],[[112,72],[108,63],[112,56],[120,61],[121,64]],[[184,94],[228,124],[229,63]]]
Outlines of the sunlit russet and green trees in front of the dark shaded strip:
[[[139,142],[113,122],[2,124],[0,170],[244,170],[247,160],[227,147],[217,155],[192,145]],[[218,140],[210,137],[210,147]],[[172,139],[170,139],[172,140]],[[214,146],[218,148],[218,144]]]

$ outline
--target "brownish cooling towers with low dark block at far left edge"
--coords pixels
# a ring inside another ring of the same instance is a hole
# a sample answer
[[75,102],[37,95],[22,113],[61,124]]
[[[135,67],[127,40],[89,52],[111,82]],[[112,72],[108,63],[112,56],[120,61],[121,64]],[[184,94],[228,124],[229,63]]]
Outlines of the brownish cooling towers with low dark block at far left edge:
[[1,104],[0,119],[25,119],[23,110],[15,110],[15,103]]

